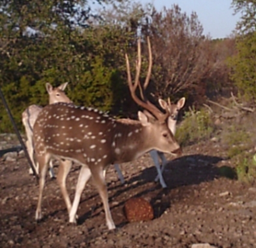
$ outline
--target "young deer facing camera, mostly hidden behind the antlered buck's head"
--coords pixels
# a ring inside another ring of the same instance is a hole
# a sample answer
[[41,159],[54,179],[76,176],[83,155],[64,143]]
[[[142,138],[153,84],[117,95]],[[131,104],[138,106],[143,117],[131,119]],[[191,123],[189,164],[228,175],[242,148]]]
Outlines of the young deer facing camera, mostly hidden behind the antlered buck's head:
[[[169,113],[168,128],[174,135],[176,132],[178,111],[180,111],[180,109],[183,108],[185,101],[186,101],[186,99],[183,97],[178,100],[177,104],[172,104],[171,100],[169,98],[168,98],[168,102],[164,101],[163,99],[159,99],[160,106],[163,108],[163,110],[166,111],[166,113]],[[125,120],[126,119],[121,119],[121,121],[125,121]],[[156,166],[156,170],[157,170],[157,176],[156,176],[155,182],[157,182],[159,180],[160,185],[163,188],[165,188],[167,186],[166,186],[165,180],[163,179],[163,176],[162,176],[162,173],[165,169],[165,165],[167,164],[165,155],[162,152],[158,152],[157,150],[151,150],[149,153],[151,155],[151,158],[153,159],[154,165]],[[159,158],[162,161],[162,167],[160,167]],[[118,177],[119,177],[121,183],[124,183],[124,176],[120,170],[119,165],[115,164],[114,166],[115,166],[115,170],[118,173]]]

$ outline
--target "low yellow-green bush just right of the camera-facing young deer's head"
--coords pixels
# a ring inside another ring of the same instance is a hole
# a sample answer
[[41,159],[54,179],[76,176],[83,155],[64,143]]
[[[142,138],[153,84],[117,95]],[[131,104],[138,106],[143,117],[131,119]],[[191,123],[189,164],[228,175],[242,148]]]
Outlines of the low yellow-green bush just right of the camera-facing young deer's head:
[[181,146],[210,138],[215,126],[206,110],[195,109],[185,113],[184,120],[178,127],[176,137]]

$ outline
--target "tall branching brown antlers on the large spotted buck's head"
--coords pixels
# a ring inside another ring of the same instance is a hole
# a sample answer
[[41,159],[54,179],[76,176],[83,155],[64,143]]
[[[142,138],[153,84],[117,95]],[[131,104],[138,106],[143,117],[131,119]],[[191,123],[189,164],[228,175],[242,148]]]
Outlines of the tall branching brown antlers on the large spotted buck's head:
[[[147,37],[148,41],[148,53],[149,53],[149,66],[148,66],[148,73],[147,78],[145,79],[145,83],[143,86],[143,89],[145,90],[148,86],[148,82],[150,80],[151,75],[151,68],[152,68],[152,55],[151,55],[151,46],[150,46],[150,40]],[[128,77],[128,85],[130,89],[130,93],[132,95],[133,100],[140,105],[141,107],[145,108],[146,110],[150,111],[157,119],[160,119],[161,117],[165,117],[166,114],[163,114],[155,105],[153,105],[150,101],[145,101],[145,96],[143,94],[143,90],[141,87],[141,84],[139,83],[139,74],[141,71],[141,39],[138,40],[138,61],[136,62],[136,76],[135,76],[135,83],[132,83],[132,77],[130,75],[130,63],[129,58],[126,53],[126,67],[127,67],[127,77]],[[139,86],[139,90],[141,93],[141,99],[136,96],[136,88]]]

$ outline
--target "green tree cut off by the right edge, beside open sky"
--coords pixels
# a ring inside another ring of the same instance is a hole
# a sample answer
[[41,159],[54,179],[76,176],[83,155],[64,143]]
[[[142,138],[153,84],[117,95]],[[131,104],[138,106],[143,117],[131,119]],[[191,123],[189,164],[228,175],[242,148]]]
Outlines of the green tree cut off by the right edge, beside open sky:
[[241,13],[237,23],[237,55],[230,58],[231,78],[241,95],[256,99],[256,1],[233,0],[235,13]]

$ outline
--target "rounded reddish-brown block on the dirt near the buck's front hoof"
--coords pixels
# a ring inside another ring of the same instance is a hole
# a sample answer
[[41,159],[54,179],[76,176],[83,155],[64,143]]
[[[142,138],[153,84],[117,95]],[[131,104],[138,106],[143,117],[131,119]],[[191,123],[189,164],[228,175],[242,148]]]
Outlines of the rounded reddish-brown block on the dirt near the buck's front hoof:
[[151,220],[154,218],[153,207],[150,202],[142,197],[130,198],[124,204],[124,213],[129,222],[139,222],[141,220]]

